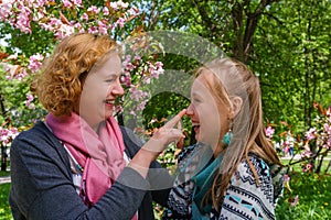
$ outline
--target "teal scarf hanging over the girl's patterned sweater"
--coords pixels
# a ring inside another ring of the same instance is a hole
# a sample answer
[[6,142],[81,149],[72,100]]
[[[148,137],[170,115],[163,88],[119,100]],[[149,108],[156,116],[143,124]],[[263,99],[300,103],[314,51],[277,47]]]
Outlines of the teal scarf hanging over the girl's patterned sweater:
[[222,155],[213,161],[212,160],[207,160],[205,167],[192,177],[192,180],[195,183],[195,188],[192,195],[192,219],[210,219],[207,215],[212,211],[212,204],[207,204],[202,207],[202,200],[213,185],[214,176],[222,162]]

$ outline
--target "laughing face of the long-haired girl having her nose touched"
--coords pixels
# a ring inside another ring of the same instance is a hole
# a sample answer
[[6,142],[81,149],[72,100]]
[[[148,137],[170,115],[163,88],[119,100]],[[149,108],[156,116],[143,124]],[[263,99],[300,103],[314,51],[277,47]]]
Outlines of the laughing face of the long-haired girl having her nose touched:
[[212,74],[206,74],[205,70],[194,80],[186,114],[191,118],[196,141],[211,144],[215,148],[220,138],[228,129],[228,107],[213,96],[206,87],[205,77],[212,77]]

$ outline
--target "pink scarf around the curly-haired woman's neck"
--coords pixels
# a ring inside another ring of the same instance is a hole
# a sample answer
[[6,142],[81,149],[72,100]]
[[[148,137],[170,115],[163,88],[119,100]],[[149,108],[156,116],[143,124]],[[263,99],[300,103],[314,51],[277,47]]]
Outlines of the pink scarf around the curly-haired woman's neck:
[[[126,163],[120,128],[110,117],[99,127],[99,135],[76,113],[46,123],[84,168],[81,197],[90,207],[111,187]],[[135,219],[135,218],[134,218]]]

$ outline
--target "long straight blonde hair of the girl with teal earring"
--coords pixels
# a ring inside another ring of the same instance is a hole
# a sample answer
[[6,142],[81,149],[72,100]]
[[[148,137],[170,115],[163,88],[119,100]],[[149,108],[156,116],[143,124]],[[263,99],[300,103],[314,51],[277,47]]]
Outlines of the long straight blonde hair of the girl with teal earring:
[[[218,58],[197,70],[199,75],[212,73],[212,77],[204,77],[206,87],[220,103],[231,107],[231,99],[239,97],[243,100],[242,109],[232,121],[233,138],[228,146],[218,140],[218,152],[223,160],[214,177],[212,189],[205,196],[210,198],[218,210],[226,187],[238,164],[246,160],[259,185],[256,168],[249,161],[248,153],[255,153],[268,164],[281,163],[271,143],[265,135],[263,121],[261,97],[258,78],[243,63],[233,58]],[[223,107],[224,108],[224,107]]]

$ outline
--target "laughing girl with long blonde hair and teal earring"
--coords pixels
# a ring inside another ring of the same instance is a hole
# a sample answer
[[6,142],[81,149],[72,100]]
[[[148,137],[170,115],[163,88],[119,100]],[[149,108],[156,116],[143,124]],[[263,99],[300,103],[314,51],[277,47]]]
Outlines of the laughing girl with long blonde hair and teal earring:
[[264,133],[258,78],[232,58],[209,63],[186,114],[197,143],[179,156],[163,218],[275,219],[281,163]]

